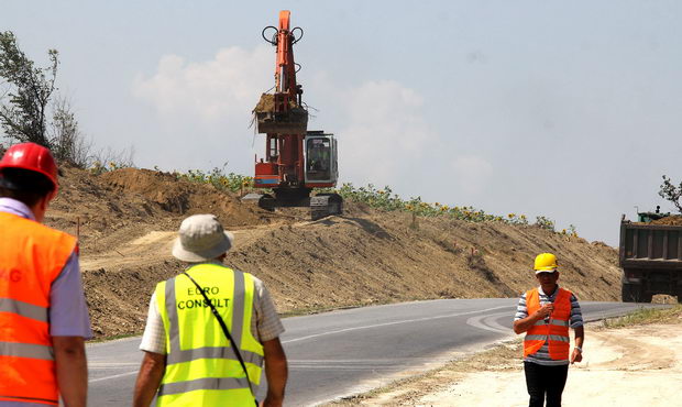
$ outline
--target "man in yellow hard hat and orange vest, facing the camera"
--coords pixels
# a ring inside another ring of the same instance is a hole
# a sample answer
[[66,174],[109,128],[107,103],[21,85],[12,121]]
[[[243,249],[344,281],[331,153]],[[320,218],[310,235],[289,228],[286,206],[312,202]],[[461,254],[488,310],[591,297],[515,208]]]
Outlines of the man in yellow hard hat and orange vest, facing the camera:
[[[540,286],[526,292],[519,299],[514,318],[514,332],[526,332],[524,372],[530,395],[530,407],[561,406],[561,394],[569,373],[569,363],[583,360],[583,317],[575,296],[559,287],[557,256],[541,253],[536,257],[536,278]],[[570,352],[569,327],[575,332]]]

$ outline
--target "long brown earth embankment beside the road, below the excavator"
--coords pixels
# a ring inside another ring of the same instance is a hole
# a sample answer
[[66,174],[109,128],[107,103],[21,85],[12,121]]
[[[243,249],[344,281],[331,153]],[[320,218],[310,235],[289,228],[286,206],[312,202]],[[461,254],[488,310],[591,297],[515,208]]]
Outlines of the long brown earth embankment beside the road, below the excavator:
[[581,300],[618,300],[615,249],[532,226],[416,218],[344,202],[343,216],[267,212],[209,185],[148,169],[65,168],[46,223],[78,234],[98,337],[140,332],[155,284],[183,270],[170,255],[180,221],[215,213],[235,234],[226,261],[263,279],[280,312],[431,298],[517,297],[553,252]]

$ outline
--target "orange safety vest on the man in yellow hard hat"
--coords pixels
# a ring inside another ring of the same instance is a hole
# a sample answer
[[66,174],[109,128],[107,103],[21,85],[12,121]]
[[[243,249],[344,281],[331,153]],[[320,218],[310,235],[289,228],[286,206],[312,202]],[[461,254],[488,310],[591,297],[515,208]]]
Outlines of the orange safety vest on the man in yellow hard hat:
[[[549,356],[553,360],[568,360],[571,339],[571,292],[559,288],[554,299],[554,310],[549,320],[539,320],[526,332],[524,339],[524,358],[536,353],[547,342]],[[526,293],[528,315],[540,309],[540,293],[534,288]]]

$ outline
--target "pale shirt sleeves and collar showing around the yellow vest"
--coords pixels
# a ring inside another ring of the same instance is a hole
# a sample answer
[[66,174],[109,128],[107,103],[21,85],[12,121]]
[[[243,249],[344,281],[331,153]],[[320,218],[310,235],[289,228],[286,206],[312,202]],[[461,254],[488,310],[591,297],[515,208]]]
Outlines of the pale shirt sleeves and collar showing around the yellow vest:
[[[218,261],[207,263],[223,265]],[[284,326],[263,282],[254,276],[253,283],[255,285],[255,298],[253,301],[255,318],[251,318],[251,333],[258,342],[263,343],[279,337],[284,332]],[[166,332],[156,305],[156,293],[152,294],[152,299],[150,300],[150,310],[140,350],[166,354]]]

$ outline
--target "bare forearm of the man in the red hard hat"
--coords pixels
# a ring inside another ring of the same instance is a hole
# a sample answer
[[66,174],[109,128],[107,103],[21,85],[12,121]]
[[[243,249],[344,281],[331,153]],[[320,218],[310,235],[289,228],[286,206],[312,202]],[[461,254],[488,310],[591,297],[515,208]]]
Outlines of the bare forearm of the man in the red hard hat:
[[88,363],[82,337],[52,337],[57,385],[66,407],[85,407],[88,398]]

